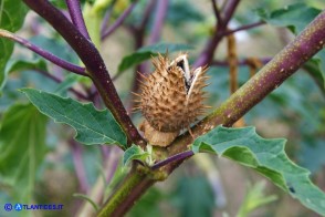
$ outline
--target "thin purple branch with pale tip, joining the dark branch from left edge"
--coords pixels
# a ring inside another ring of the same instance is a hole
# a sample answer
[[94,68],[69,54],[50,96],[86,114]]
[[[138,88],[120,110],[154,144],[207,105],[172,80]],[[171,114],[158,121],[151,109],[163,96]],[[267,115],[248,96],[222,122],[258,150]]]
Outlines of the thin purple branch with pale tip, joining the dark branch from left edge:
[[36,46],[35,44],[32,44],[28,40],[20,38],[20,37],[15,35],[7,30],[0,30],[0,37],[7,38],[7,39],[10,39],[12,41],[20,43],[21,45],[30,49],[31,51],[38,53],[39,55],[43,56],[44,59],[51,61],[52,63],[54,63],[54,64],[56,64],[67,71],[71,71],[75,74],[80,74],[83,76],[88,76],[88,74],[85,72],[84,68],[81,68],[81,66],[72,64],[63,59],[60,59],[56,55]]

